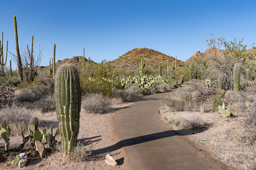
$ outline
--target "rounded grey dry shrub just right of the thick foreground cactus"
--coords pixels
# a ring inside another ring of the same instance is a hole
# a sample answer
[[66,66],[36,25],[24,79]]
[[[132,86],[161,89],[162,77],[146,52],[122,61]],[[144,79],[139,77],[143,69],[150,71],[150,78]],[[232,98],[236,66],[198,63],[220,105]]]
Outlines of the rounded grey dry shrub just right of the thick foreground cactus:
[[82,102],[89,113],[104,113],[110,110],[110,99],[102,94],[89,94]]

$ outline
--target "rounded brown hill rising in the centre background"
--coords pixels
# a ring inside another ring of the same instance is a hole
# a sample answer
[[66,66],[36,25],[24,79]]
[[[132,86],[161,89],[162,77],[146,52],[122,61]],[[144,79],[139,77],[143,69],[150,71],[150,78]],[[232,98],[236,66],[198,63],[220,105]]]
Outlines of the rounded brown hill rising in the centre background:
[[[122,68],[125,70],[137,70],[139,68],[139,63],[141,62],[141,58],[143,57],[143,62],[146,66],[156,66],[158,67],[159,62],[161,62],[161,55],[163,57],[163,64],[167,64],[167,60],[169,65],[175,64],[175,58],[167,56],[163,53],[155,51],[153,49],[147,48],[136,48],[133,49],[124,55],[120,56],[118,59],[110,61],[113,69]],[[177,60],[177,66],[183,66],[183,62],[181,60]]]

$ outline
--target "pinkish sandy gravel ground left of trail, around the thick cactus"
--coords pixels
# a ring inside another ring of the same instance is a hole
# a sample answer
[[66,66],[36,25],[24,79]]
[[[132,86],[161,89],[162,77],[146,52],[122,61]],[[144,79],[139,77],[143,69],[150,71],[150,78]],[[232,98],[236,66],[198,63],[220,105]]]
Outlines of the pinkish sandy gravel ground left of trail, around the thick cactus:
[[[80,112],[80,128],[78,134],[78,142],[85,145],[87,150],[92,150],[92,154],[88,156],[86,160],[75,162],[73,160],[67,160],[62,157],[60,152],[49,153],[45,158],[29,157],[28,163],[25,166],[26,169],[130,169],[126,163],[126,157],[124,150],[116,149],[115,144],[118,139],[114,135],[112,125],[112,114],[123,107],[132,104],[122,103],[112,105],[112,112],[106,114],[89,114],[85,110]],[[53,124],[53,131],[58,127],[58,120],[55,112],[43,113],[39,117],[41,128],[50,127]],[[49,129],[47,129],[48,131]],[[26,136],[26,135],[25,135]],[[57,137],[57,141],[60,141],[60,135]],[[22,137],[10,137],[10,148],[17,147],[22,143]],[[4,145],[3,140],[0,140],[0,145]],[[25,152],[29,152],[26,147],[30,147],[30,142],[27,142],[24,149]],[[3,149],[0,149],[3,150]],[[106,154],[109,153],[119,165],[111,166],[105,163]],[[3,154],[3,151],[1,152]],[[16,154],[16,153],[15,153]],[[13,155],[15,156],[15,155]],[[28,154],[28,156],[30,156]],[[0,163],[0,169],[15,169],[10,161]]]

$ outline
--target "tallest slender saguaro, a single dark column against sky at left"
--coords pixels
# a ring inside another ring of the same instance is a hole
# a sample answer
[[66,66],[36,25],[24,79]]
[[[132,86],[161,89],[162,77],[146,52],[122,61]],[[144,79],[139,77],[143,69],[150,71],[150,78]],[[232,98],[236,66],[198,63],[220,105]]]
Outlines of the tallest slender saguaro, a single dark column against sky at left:
[[21,62],[21,55],[20,55],[19,43],[18,43],[18,30],[17,30],[16,16],[14,16],[14,32],[15,32],[15,46],[16,46],[16,53],[17,53],[18,75],[19,75],[20,81],[23,81],[23,71],[22,71],[22,62]]

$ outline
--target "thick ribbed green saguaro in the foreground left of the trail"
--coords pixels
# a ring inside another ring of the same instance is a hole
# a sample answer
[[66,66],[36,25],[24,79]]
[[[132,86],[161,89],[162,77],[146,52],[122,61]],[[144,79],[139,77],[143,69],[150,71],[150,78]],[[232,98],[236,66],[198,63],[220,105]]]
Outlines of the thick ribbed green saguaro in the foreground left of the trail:
[[79,74],[72,64],[63,64],[55,75],[56,109],[64,155],[75,147],[79,131],[81,92]]

